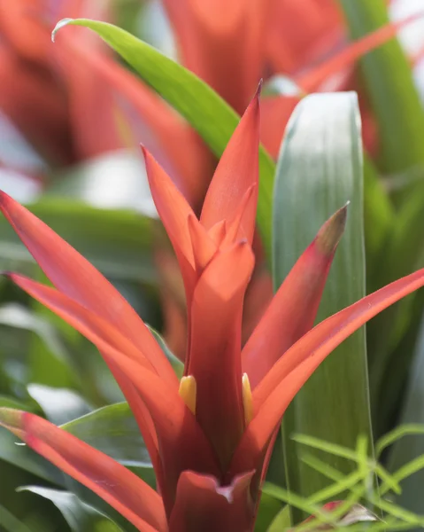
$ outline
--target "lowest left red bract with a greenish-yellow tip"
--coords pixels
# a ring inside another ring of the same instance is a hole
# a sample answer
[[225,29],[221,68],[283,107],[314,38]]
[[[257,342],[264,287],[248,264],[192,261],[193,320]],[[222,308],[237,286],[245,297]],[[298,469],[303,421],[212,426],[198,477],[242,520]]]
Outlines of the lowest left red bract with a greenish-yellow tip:
[[94,491],[142,532],[166,532],[161,497],[134,473],[73,434],[27,412],[0,408],[0,425]]

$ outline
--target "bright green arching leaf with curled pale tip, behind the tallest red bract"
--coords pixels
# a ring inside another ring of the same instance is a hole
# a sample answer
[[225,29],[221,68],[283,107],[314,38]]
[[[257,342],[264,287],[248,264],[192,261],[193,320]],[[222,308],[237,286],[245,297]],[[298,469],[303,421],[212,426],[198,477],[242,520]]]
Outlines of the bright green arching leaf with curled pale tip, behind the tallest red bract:
[[[88,19],[64,19],[58,22],[53,36],[68,24],[89,27],[100,35],[122,59],[135,69],[144,82],[189,121],[212,152],[220,157],[239,117],[206,83],[172,59],[166,58],[134,35],[105,22]],[[252,95],[253,96],[253,95]],[[271,193],[274,162],[264,148],[259,148],[258,226],[266,250],[271,249]],[[269,256],[269,254],[268,254]]]

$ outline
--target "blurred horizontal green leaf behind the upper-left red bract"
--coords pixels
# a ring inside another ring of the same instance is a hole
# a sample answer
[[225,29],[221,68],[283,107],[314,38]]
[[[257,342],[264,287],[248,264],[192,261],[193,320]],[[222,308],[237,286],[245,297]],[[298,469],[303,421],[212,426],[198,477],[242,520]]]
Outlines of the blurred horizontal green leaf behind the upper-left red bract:
[[[50,198],[27,206],[108,278],[153,282],[151,220],[135,212],[105,210]],[[0,218],[0,269],[34,269],[34,260],[15,231]]]

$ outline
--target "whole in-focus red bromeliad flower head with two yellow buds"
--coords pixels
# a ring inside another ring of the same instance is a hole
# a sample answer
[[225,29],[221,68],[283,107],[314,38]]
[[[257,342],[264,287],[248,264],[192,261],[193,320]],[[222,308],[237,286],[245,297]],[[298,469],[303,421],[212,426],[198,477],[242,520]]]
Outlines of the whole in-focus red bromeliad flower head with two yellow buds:
[[2,212],[55,288],[5,275],[99,349],[143,434],[158,492],[33,414],[3,408],[0,424],[142,531],[251,530],[274,434],[294,395],[352,332],[424,285],[424,270],[417,271],[309,331],[343,234],[342,207],[298,259],[242,349],[243,297],[254,266],[258,136],[257,94],[220,160],[200,219],[144,150],[150,190],[180,264],[189,309],[180,382],[113,286],[35,215],[0,196]]

